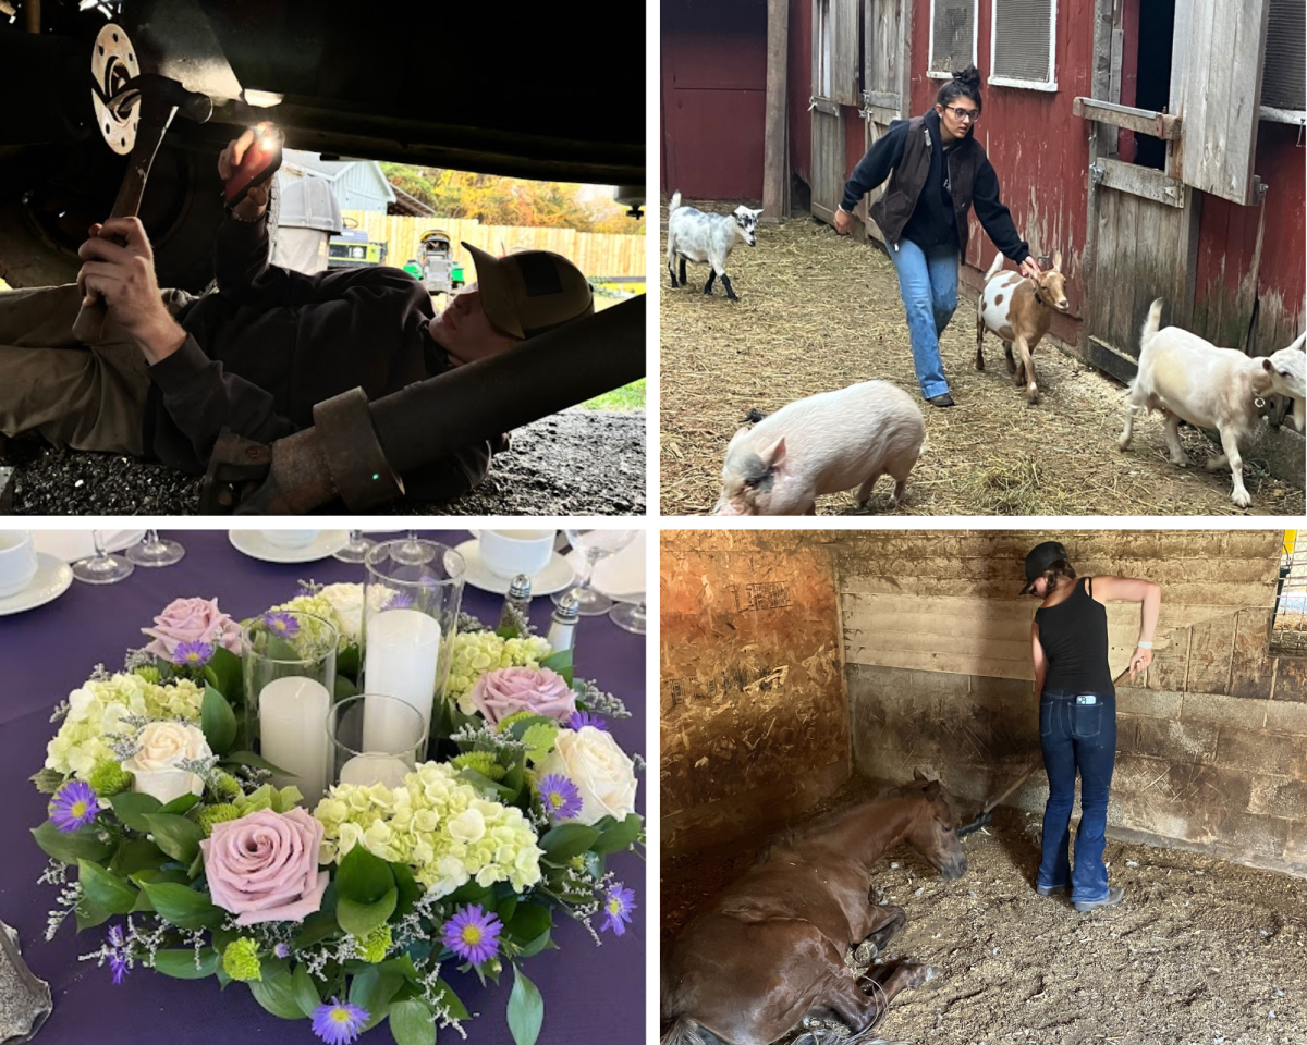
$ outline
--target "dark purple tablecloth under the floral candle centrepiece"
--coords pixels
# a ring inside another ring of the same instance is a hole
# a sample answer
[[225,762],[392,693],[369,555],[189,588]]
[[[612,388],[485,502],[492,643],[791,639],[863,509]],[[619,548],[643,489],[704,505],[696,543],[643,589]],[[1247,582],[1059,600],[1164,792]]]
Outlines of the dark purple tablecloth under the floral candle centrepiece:
[[[31,971],[50,982],[55,1008],[37,1036],[43,1045],[183,1045],[183,1042],[316,1042],[307,1020],[290,1023],[265,1012],[239,985],[218,990],[217,981],[173,980],[137,967],[119,986],[107,967],[78,961],[99,947],[103,929],[77,937],[69,918],[55,939],[43,939],[46,912],[54,887],[37,884],[46,857],[27,829],[46,816],[47,799],[27,782],[44,763],[54,735],[50,711],[80,686],[97,664],[122,665],[129,647],[144,644],[140,634],[154,614],[180,596],[217,597],[233,617],[244,618],[297,594],[299,579],[323,584],[361,581],[363,567],[327,559],[277,566],[247,558],[225,532],[190,530],[170,534],[187,550],[176,566],[142,570],[105,587],[74,581],[55,602],[16,617],[0,618],[0,920],[20,934]],[[465,533],[423,534],[456,545]],[[502,600],[471,585],[463,609],[493,624]],[[536,598],[532,620],[548,630],[549,598]],[[610,722],[614,737],[630,752],[644,751],[644,639],[622,631],[606,618],[584,618],[576,634],[576,673],[621,696],[633,717]],[[640,779],[639,810],[644,812]],[[635,890],[639,907],[626,935],[601,933],[596,947],[584,927],[561,918],[554,939],[559,951],[529,959],[524,969],[545,998],[540,1042],[644,1041],[644,862],[631,853],[610,858],[609,866]],[[597,920],[596,920],[597,921]],[[597,927],[597,926],[596,926]],[[476,1015],[468,1029],[471,1045],[511,1045],[505,1020],[511,976],[499,986],[482,988],[474,974],[457,972],[454,989]],[[454,1031],[439,1035],[450,1041]],[[362,1041],[389,1042],[384,1027]]]

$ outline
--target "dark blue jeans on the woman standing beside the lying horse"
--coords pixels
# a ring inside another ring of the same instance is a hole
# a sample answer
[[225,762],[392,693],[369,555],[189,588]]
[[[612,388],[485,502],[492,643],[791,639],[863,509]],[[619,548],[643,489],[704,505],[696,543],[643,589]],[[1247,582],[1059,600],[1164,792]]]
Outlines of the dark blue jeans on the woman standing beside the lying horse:
[[[1048,771],[1043,860],[1036,884],[1070,884],[1072,903],[1107,899],[1107,792],[1116,764],[1116,698],[1044,690],[1039,699],[1039,745]],[[1080,771],[1080,829],[1070,866],[1070,811]]]

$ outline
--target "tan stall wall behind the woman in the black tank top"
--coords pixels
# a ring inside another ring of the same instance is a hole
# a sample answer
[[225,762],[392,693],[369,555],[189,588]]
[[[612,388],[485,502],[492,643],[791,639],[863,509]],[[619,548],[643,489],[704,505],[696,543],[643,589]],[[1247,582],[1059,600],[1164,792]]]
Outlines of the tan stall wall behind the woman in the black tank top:
[[[855,767],[933,768],[972,799],[1042,767],[1030,619],[1035,543],[1081,575],[1162,585],[1155,658],[1117,688],[1117,837],[1307,875],[1307,658],[1268,652],[1283,530],[911,532],[836,549]],[[1119,674],[1138,607],[1108,607]],[[1042,811],[1042,769],[1013,805]]]

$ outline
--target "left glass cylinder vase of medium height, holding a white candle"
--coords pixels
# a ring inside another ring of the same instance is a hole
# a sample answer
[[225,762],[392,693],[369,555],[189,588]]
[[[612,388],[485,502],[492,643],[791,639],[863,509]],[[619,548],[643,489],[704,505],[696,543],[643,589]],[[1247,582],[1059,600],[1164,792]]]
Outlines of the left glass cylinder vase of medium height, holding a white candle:
[[246,737],[284,769],[272,782],[294,784],[311,810],[331,784],[327,716],[336,688],[340,634],[320,617],[274,610],[246,628]]

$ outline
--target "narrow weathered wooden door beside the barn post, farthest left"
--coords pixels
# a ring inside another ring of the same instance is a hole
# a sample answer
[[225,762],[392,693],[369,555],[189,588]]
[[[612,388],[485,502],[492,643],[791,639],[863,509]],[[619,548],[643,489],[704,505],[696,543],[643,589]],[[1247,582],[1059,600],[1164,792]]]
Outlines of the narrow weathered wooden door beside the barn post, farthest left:
[[859,0],[813,0],[813,214],[835,219],[844,195],[844,118],[860,101]]

